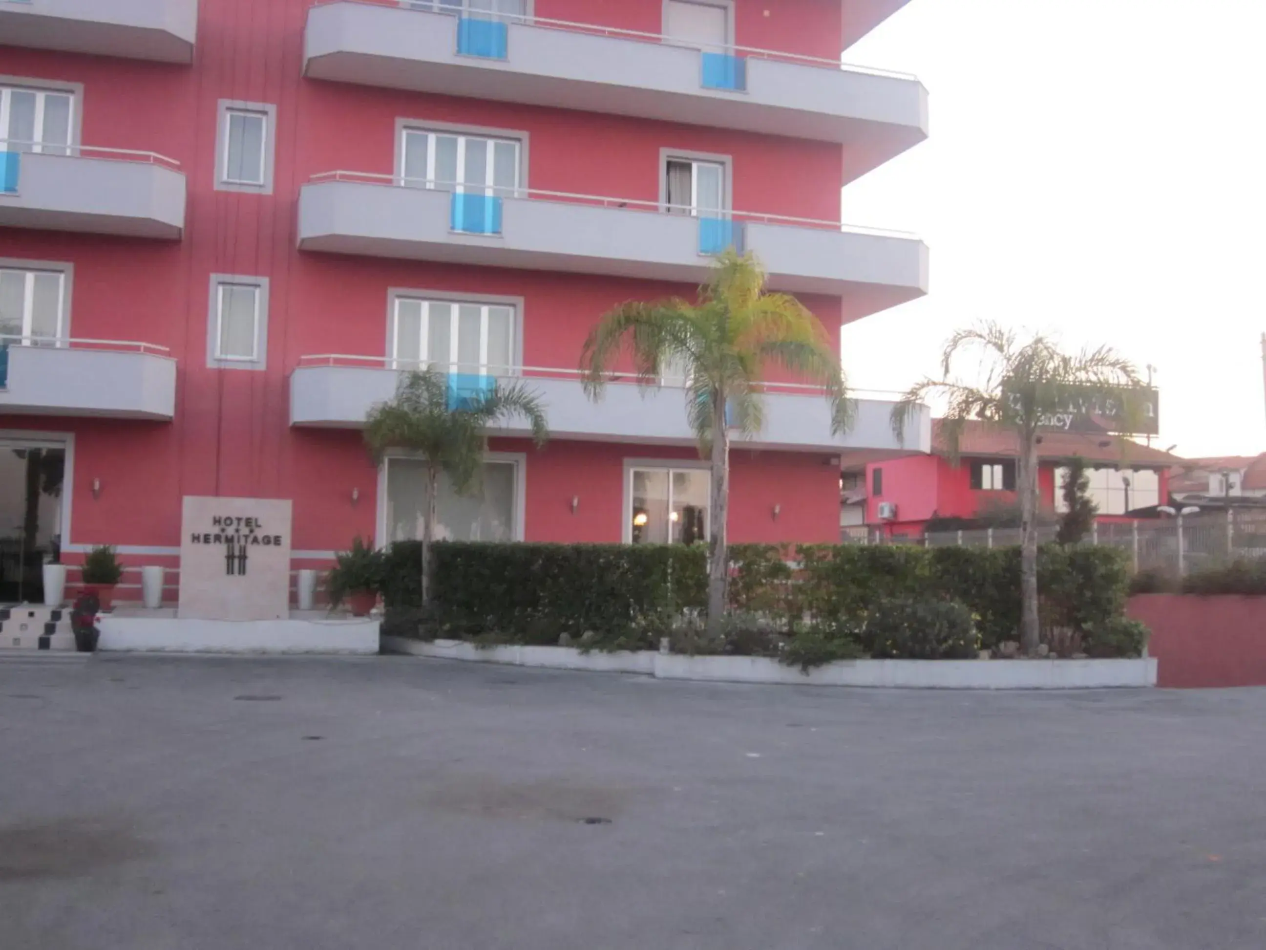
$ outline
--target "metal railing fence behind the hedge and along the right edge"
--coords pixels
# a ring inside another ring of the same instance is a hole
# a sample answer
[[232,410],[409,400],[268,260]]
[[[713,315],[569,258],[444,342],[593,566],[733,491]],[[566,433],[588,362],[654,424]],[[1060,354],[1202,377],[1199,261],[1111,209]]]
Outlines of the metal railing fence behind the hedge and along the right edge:
[[[1038,541],[1055,541],[1058,528],[1043,524]],[[1008,547],[1020,542],[1019,528],[929,532],[922,538],[889,538],[870,527],[843,528],[843,543],[924,545],[927,547]],[[1185,575],[1237,560],[1266,557],[1266,509],[1228,510],[1161,521],[1096,523],[1082,543],[1128,551],[1136,571]]]

